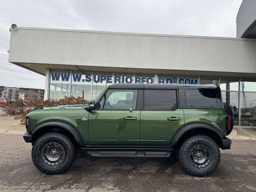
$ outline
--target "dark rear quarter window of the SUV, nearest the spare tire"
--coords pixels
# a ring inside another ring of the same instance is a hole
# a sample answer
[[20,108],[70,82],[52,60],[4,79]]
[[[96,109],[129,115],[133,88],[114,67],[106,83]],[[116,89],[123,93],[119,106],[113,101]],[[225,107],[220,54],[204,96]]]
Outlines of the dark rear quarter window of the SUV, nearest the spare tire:
[[187,107],[217,107],[217,96],[215,90],[209,89],[186,89]]

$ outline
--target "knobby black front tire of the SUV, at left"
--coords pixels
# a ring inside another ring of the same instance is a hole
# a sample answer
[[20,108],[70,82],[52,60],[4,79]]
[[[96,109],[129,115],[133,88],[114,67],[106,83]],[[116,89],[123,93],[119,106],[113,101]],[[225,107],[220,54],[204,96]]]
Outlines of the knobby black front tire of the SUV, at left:
[[[46,147],[49,146],[48,149],[50,150],[51,145],[56,145],[57,147],[61,148],[61,150],[58,149],[58,152],[60,152],[62,155],[60,156],[60,160],[58,162],[54,163],[53,161],[53,163],[49,164],[49,160],[44,154]],[[36,139],[36,141],[33,143],[31,152],[34,165],[38,170],[45,174],[64,173],[74,163],[76,160],[76,155],[77,147],[74,140],[62,133],[57,132],[48,132]]]

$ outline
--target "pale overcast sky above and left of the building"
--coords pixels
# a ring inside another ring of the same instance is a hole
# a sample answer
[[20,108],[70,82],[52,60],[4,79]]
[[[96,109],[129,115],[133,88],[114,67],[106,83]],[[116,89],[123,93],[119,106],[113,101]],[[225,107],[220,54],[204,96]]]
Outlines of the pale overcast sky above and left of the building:
[[236,37],[242,0],[0,0],[0,86],[44,89],[45,77],[8,63],[9,28],[65,28]]

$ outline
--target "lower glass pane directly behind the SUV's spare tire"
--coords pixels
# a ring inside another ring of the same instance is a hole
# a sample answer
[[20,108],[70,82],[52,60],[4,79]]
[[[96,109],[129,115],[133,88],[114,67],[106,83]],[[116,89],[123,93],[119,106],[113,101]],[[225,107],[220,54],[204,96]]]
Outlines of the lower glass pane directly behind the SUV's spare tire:
[[222,100],[231,107],[234,125],[239,125],[239,92],[222,91]]

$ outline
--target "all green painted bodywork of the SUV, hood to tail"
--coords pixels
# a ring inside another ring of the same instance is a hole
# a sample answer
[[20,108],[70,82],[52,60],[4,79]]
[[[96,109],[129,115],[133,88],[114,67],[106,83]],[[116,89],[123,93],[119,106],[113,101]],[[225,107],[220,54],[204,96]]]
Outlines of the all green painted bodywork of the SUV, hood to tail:
[[[95,100],[95,105],[108,88]],[[60,106],[33,110],[27,117],[29,133],[46,122],[64,122],[78,132],[84,146],[168,147],[181,128],[194,123],[210,125],[222,138],[226,137],[226,114],[222,108],[88,112],[81,106]],[[82,120],[83,117],[87,120]]]

